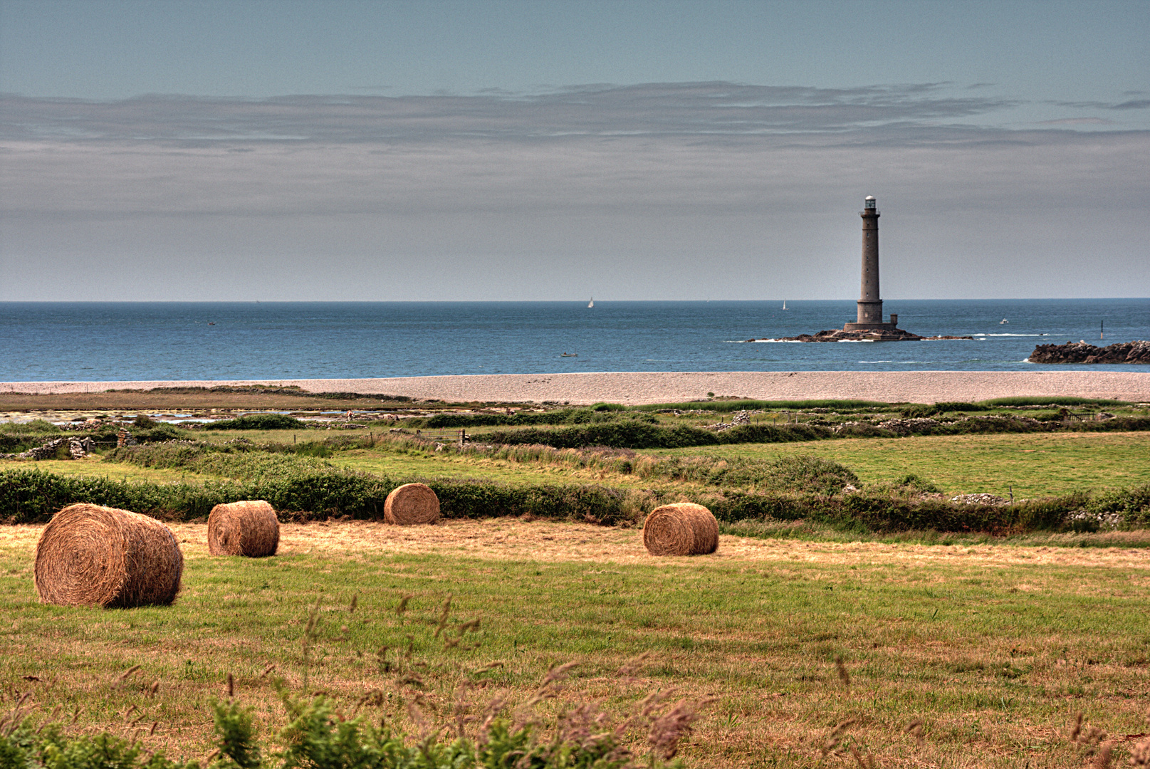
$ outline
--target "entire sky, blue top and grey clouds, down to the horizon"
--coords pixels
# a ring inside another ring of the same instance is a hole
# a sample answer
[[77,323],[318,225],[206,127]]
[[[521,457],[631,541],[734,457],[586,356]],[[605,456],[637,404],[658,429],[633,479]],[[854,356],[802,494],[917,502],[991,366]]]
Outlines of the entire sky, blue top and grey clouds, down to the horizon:
[[0,0],[0,301],[1150,295],[1150,1]]

